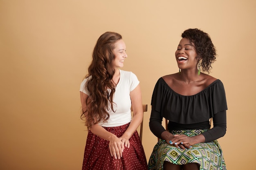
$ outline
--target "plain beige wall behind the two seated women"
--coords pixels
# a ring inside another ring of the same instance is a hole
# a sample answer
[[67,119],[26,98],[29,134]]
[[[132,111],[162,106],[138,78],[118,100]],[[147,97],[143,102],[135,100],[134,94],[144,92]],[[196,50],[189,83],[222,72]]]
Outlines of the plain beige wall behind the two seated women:
[[[255,167],[255,0],[0,0],[0,169],[80,170],[87,132],[79,86],[105,31],[123,35],[126,71],[143,103],[157,79],[178,71],[181,33],[209,33],[218,57],[210,75],[225,85],[228,170]],[[157,138],[144,115],[147,159]]]

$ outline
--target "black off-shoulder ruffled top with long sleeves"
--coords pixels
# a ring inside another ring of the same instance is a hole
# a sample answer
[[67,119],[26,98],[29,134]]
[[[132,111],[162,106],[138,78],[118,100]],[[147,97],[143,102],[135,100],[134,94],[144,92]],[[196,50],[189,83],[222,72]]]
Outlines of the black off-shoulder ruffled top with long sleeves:
[[149,126],[159,138],[165,131],[163,117],[169,120],[168,128],[174,130],[209,128],[209,119],[213,117],[214,127],[203,134],[205,141],[225,135],[227,102],[219,79],[195,95],[184,96],[173,91],[161,77],[155,85],[151,106]]

